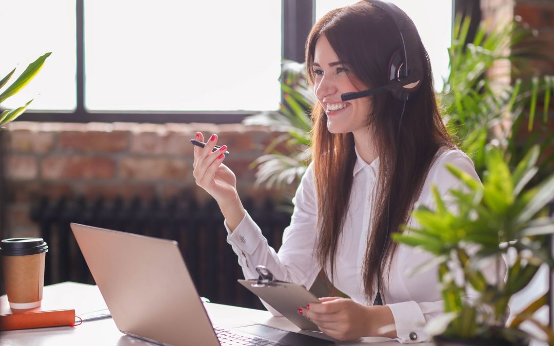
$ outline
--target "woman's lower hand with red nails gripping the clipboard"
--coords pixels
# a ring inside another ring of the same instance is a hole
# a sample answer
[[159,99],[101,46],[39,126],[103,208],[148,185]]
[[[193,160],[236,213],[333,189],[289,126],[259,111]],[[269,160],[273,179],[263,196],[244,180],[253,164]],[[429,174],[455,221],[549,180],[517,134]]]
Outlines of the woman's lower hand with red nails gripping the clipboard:
[[394,317],[387,306],[364,306],[352,299],[340,297],[319,298],[321,303],[310,303],[299,309],[317,327],[338,340],[382,336],[396,338],[394,332],[381,333],[379,328],[394,325]]

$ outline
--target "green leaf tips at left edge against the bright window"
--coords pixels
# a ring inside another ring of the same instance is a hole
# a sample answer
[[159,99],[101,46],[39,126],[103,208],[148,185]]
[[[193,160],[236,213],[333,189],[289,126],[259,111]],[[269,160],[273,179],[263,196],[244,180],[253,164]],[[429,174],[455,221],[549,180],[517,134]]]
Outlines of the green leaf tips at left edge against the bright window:
[[[33,61],[32,63],[27,66],[27,69],[23,71],[23,73],[14,81],[11,85],[9,85],[2,93],[0,94],[0,103],[6,101],[8,97],[11,97],[23,87],[25,87],[29,82],[34,78],[35,75],[42,69],[42,66],[44,65],[44,61],[48,56],[50,56],[52,53],[46,53],[42,56],[40,56],[37,60]],[[0,80],[0,89],[4,87],[4,85],[7,84],[9,79],[12,78],[13,74],[16,72],[16,69],[13,69],[10,73],[8,73],[2,80]],[[30,105],[30,103],[33,102],[33,100],[28,101],[25,105],[21,107],[17,107],[14,110],[4,110],[0,114],[0,125],[6,125],[8,122],[16,120],[16,118],[23,114],[25,110],[27,110],[27,107]]]

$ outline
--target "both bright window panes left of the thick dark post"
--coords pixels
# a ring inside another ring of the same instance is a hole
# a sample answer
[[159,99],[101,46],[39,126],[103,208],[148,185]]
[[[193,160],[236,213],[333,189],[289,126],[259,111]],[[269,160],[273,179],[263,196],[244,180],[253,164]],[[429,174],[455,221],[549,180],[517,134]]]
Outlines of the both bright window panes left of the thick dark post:
[[9,33],[3,47],[10,53],[0,73],[16,65],[21,73],[53,53],[3,106],[40,93],[29,110],[75,110],[79,5],[86,111],[279,108],[281,2],[258,0],[0,0],[0,30]]

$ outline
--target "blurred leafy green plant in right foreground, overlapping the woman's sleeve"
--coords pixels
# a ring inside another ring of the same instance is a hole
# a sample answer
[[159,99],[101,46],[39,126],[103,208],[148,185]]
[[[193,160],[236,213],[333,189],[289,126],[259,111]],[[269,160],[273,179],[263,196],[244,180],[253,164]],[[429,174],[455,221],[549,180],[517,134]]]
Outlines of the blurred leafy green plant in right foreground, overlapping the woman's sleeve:
[[[554,331],[535,321],[532,315],[547,303],[538,298],[506,326],[510,298],[532,280],[538,268],[553,259],[546,239],[554,233],[554,220],[543,213],[554,196],[554,174],[532,188],[526,188],[537,174],[538,146],[526,154],[510,172],[499,148],[485,150],[483,185],[453,166],[448,170],[462,184],[450,191],[446,202],[433,188],[436,210],[420,205],[413,211],[419,226],[407,228],[393,239],[433,254],[434,260],[414,270],[438,266],[445,315],[430,323],[438,345],[524,345],[530,335],[520,329],[529,321],[540,328],[543,339],[554,344]],[[502,256],[509,259],[506,281],[497,271],[495,280],[485,276],[485,268]],[[460,277],[455,280],[453,273]],[[470,292],[473,299],[466,299]]]

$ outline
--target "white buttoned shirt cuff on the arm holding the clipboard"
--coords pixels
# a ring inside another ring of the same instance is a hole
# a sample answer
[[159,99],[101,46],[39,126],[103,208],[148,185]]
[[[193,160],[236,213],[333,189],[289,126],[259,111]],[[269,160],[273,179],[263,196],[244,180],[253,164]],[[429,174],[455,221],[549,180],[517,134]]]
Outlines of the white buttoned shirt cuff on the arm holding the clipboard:
[[403,344],[425,342],[429,334],[425,332],[425,317],[414,301],[387,304],[392,311],[396,326],[397,341]]

